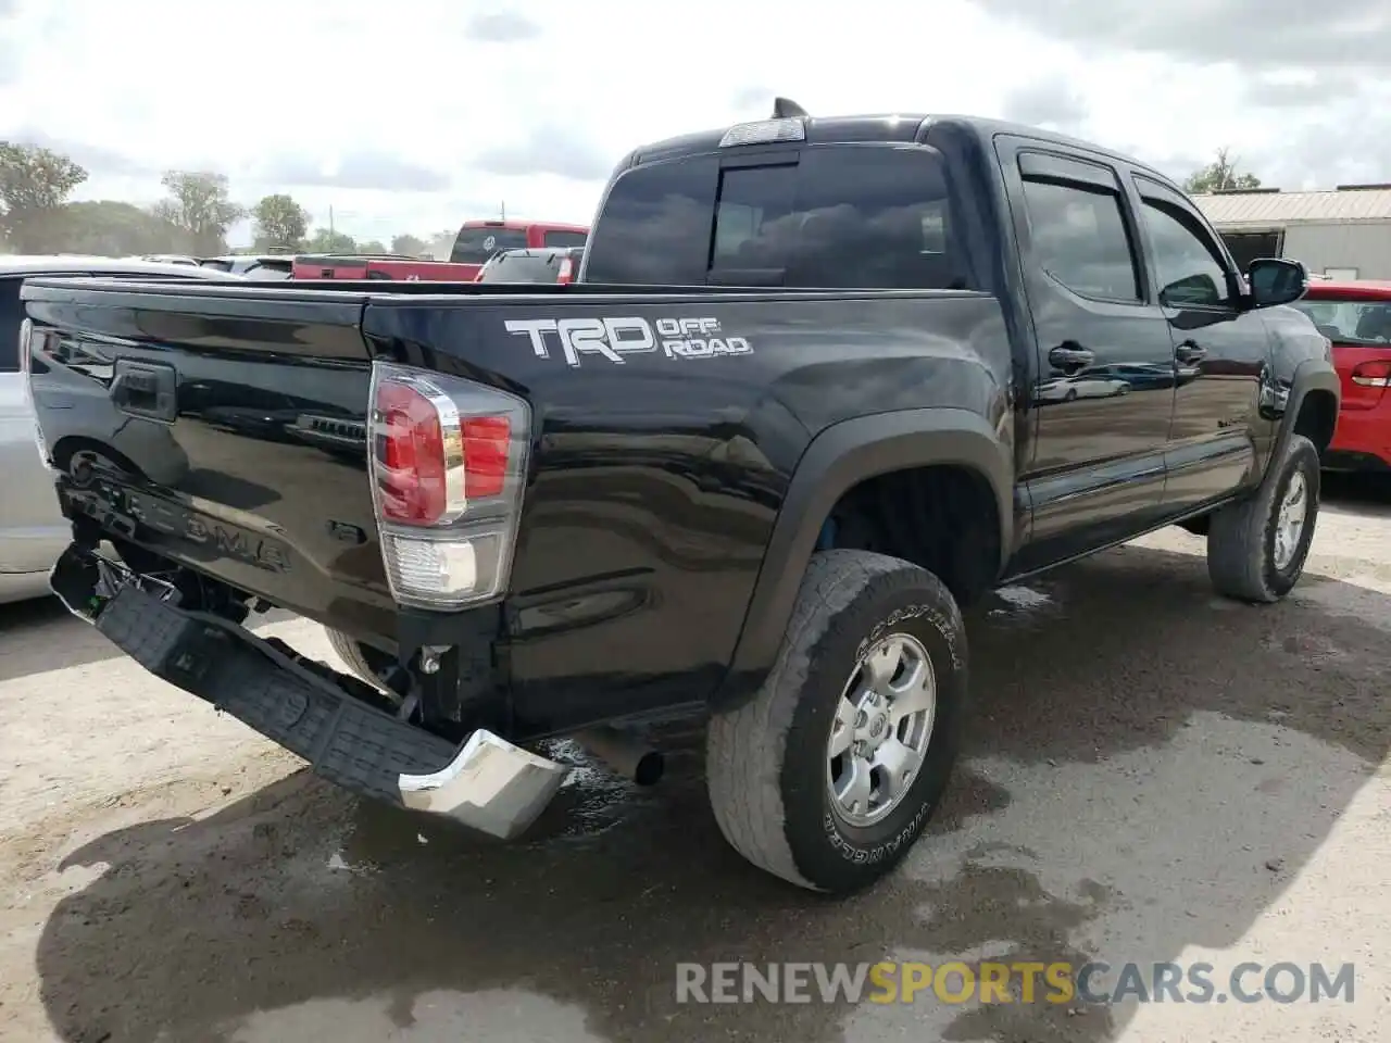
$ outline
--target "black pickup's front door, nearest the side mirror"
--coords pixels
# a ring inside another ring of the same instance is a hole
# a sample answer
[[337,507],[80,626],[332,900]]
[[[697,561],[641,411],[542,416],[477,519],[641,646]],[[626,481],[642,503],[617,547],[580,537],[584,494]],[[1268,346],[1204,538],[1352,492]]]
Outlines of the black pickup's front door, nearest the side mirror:
[[1255,477],[1270,341],[1264,317],[1239,306],[1235,266],[1196,207],[1139,174],[1135,191],[1177,360],[1164,508],[1182,513]]

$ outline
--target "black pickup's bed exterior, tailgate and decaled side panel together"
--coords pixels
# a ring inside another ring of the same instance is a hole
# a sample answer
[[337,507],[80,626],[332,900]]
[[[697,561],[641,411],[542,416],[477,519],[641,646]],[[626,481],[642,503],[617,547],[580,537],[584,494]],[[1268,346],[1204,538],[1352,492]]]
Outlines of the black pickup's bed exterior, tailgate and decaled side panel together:
[[[367,474],[374,360],[523,398],[492,636],[523,734],[714,690],[811,435],[890,409],[990,414],[1010,367],[999,303],[963,291],[35,280],[24,300],[70,516],[388,651],[402,612]],[[641,328],[664,332],[634,352],[622,338]],[[967,342],[997,352],[983,385],[960,375],[981,371]],[[122,374],[166,398],[113,405]]]

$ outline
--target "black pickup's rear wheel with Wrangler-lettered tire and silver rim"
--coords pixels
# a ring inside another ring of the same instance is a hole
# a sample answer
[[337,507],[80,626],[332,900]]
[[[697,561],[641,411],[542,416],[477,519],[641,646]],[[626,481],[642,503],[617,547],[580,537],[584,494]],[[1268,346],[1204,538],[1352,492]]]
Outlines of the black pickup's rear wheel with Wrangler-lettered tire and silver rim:
[[965,690],[961,612],[932,573],[867,551],[815,555],[766,683],[709,723],[721,832],[801,887],[876,882],[942,797]]

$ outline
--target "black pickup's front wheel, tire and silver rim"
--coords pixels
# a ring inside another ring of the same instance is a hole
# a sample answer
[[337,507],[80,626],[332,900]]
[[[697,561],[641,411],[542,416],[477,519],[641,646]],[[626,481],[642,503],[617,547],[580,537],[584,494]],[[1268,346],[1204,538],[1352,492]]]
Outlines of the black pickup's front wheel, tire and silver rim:
[[1212,516],[1207,574],[1219,594],[1269,604],[1294,588],[1319,519],[1319,451],[1291,435],[1255,495]]

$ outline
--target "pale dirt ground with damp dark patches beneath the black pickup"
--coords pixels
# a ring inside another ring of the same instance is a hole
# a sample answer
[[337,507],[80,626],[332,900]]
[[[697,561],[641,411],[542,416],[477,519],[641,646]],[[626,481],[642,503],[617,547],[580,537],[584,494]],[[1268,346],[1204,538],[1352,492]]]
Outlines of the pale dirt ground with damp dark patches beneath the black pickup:
[[[1214,598],[1167,530],[975,612],[947,804],[840,904],[729,850],[691,741],[654,790],[581,772],[499,846],[313,779],[54,605],[0,611],[0,1039],[1385,1040],[1391,494],[1334,492],[1285,604]],[[1356,992],[675,998],[682,961],[881,958],[1352,962]]]

